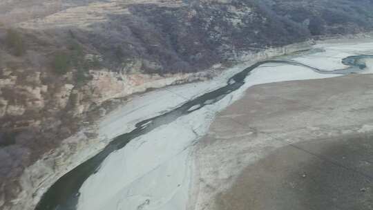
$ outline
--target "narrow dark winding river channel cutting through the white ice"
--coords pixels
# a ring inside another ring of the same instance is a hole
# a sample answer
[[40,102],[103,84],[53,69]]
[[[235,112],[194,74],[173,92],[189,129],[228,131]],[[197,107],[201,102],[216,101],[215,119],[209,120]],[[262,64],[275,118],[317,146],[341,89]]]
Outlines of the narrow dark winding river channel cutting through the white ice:
[[99,152],[93,158],[90,158],[86,162],[83,162],[79,166],[75,167],[75,169],[69,171],[64,176],[59,178],[59,180],[57,180],[55,184],[52,184],[48,191],[46,191],[46,193],[44,193],[44,195],[42,196],[35,210],[77,209],[77,202],[79,200],[79,189],[82,187],[82,184],[85,180],[87,180],[87,178],[89,178],[90,175],[96,173],[99,170],[100,164],[110,153],[112,153],[113,151],[117,151],[118,149],[122,149],[135,137],[144,135],[144,133],[148,133],[149,131],[152,131],[162,124],[169,124],[182,115],[188,115],[189,113],[196,111],[207,104],[218,102],[220,99],[245,84],[245,78],[249,76],[251,70],[258,68],[263,64],[288,64],[303,66],[306,68],[310,68],[317,73],[343,75],[349,73],[358,73],[359,71],[363,70],[366,67],[364,59],[373,59],[373,55],[358,55],[346,57],[342,60],[342,62],[349,67],[332,71],[321,70],[312,66],[297,63],[295,61],[259,61],[256,64],[245,68],[240,73],[233,75],[233,77],[228,80],[226,86],[201,95],[200,97],[196,97],[195,99],[186,102],[182,106],[179,106],[178,108],[175,108],[168,113],[164,113],[163,115],[159,115],[157,117],[139,122],[135,125],[135,129],[133,129],[133,131],[115,137],[113,141],[111,141],[111,143],[104,148],[104,150]]

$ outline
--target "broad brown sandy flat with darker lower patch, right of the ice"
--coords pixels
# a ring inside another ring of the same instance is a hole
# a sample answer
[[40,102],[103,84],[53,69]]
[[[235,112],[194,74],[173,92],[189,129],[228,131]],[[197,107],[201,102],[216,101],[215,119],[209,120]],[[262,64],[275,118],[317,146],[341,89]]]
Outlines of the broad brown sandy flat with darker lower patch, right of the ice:
[[370,209],[373,75],[262,84],[195,151],[195,209]]

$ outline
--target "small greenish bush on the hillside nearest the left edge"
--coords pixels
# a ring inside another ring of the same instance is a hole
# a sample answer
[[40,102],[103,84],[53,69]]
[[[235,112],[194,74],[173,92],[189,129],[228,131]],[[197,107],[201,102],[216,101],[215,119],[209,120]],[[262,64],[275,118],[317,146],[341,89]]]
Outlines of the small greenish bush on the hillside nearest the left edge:
[[26,47],[23,43],[21,33],[17,32],[12,28],[6,32],[6,46],[12,50],[12,54],[15,56],[21,56],[25,53]]

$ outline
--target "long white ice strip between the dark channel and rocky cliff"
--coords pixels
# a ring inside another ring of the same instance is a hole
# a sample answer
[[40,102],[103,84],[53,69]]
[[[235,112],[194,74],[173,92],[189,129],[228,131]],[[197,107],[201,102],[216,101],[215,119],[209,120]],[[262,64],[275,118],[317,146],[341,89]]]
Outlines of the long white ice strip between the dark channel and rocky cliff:
[[226,85],[229,77],[238,73],[249,64],[241,64],[226,70],[213,80],[169,86],[154,90],[144,95],[135,96],[131,102],[117,108],[100,122],[99,135],[102,139],[112,139],[117,135],[129,132],[137,122],[171,111],[189,99],[216,90]]

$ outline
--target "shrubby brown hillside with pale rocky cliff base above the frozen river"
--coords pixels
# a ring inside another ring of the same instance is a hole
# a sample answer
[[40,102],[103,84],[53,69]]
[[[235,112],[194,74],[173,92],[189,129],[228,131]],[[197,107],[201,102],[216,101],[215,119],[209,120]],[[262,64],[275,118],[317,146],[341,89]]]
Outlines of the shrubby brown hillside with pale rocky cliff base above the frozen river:
[[1,1],[0,207],[22,191],[23,169],[112,99],[209,79],[263,49],[371,30],[370,8],[371,0]]

